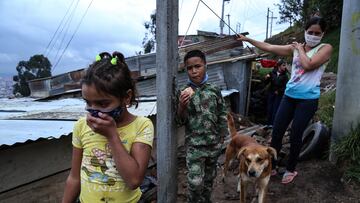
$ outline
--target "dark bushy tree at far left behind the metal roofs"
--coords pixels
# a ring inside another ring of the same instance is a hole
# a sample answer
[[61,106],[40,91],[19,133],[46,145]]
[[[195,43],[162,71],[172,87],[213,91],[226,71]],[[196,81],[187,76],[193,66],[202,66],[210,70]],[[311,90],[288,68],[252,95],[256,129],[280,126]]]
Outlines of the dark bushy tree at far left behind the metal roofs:
[[16,82],[13,93],[29,96],[31,92],[27,82],[37,78],[50,77],[51,63],[43,55],[34,55],[29,61],[20,61],[16,66],[16,70],[18,75],[13,77]]

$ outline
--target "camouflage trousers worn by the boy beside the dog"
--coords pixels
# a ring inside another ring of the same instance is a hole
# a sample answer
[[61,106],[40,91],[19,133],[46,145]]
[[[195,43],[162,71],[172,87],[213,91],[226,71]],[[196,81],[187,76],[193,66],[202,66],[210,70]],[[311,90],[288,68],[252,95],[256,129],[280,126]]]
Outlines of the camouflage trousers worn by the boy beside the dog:
[[213,181],[216,177],[217,159],[221,145],[188,146],[186,165],[188,168],[188,196],[190,203],[211,202]]

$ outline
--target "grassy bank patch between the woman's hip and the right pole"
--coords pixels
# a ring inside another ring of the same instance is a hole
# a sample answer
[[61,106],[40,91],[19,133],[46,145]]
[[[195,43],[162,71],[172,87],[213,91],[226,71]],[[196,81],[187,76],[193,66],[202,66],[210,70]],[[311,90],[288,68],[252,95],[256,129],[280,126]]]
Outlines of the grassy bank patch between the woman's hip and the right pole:
[[334,117],[336,91],[329,91],[321,94],[319,99],[319,108],[315,113],[315,120],[320,120],[329,129],[332,128],[332,121]]

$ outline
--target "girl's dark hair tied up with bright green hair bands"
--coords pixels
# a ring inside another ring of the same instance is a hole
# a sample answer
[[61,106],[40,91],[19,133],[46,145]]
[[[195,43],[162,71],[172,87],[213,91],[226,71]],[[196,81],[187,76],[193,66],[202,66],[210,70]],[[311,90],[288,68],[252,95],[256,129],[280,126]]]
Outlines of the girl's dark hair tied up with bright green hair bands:
[[81,80],[82,84],[93,84],[98,92],[104,92],[120,100],[127,96],[128,90],[132,90],[130,106],[138,105],[135,81],[131,78],[125,57],[120,52],[114,52],[112,55],[107,52],[100,53],[87,69]]

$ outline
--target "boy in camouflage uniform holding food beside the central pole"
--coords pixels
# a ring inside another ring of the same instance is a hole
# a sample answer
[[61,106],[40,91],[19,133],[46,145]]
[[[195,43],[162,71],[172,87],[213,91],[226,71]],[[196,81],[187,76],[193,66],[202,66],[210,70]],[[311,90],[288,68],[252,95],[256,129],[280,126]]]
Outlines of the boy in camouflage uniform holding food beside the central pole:
[[207,83],[204,53],[188,52],[184,64],[189,81],[178,93],[176,121],[185,124],[187,199],[191,203],[208,203],[211,202],[217,159],[228,132],[227,109],[220,89]]

